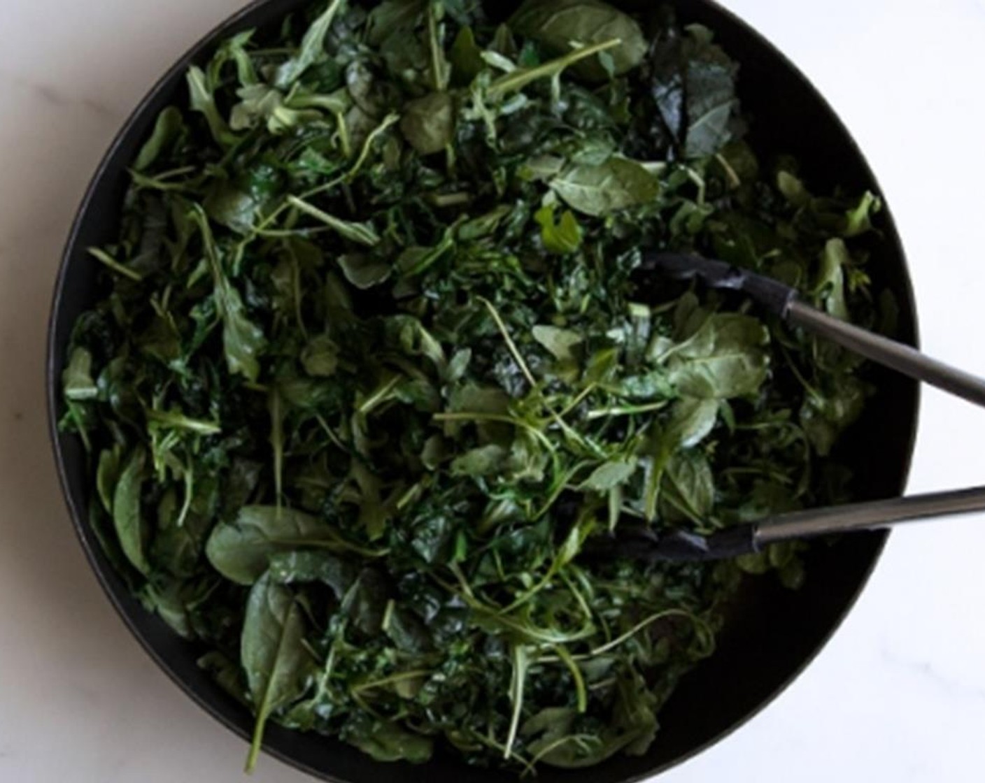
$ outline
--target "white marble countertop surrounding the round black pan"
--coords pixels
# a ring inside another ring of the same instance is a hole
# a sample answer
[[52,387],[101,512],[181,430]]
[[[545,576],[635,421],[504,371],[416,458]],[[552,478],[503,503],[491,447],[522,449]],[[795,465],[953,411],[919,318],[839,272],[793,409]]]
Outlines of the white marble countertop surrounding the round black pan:
[[[103,598],[43,421],[49,295],[73,212],[137,100],[243,0],[0,0],[0,780],[241,780],[244,745]],[[924,345],[985,375],[985,2],[728,0],[855,133],[906,243]],[[933,10],[932,10],[933,9]],[[928,392],[911,490],[985,481],[985,415]],[[819,660],[668,783],[980,781],[985,517],[893,536]],[[309,778],[264,759],[257,783]]]

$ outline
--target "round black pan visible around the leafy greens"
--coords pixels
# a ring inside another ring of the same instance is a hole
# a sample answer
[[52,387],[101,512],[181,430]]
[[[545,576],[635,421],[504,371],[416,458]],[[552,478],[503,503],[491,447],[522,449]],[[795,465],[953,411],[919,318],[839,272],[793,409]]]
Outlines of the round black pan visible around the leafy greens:
[[[72,228],[55,287],[47,357],[48,413],[62,488],[86,554],[103,589],[147,652],[170,678],[204,709],[248,737],[252,718],[195,664],[193,644],[134,600],[102,555],[87,521],[92,480],[77,438],[58,432],[60,373],[76,318],[97,301],[99,289],[86,248],[115,239],[127,185],[126,166],[146,138],[158,112],[183,90],[185,69],[208,59],[213,44],[246,28],[276,25],[285,14],[311,0],[261,0],[209,33],[175,66],[124,125],[82,203]],[[505,13],[512,3],[496,2]],[[617,3],[648,8],[651,2]],[[845,127],[805,77],[765,39],[710,0],[677,0],[679,16],[711,28],[742,64],[741,98],[754,118],[752,135],[760,151],[796,155],[819,189],[843,185],[852,191],[879,190],[868,164]],[[902,247],[891,218],[884,214],[885,241],[871,262],[877,285],[896,295],[897,337],[916,343],[916,315]],[[916,431],[918,392],[910,381],[886,373],[861,424],[849,436],[842,458],[854,468],[862,499],[898,495],[909,469]],[[583,771],[544,770],[540,780],[616,783],[664,771],[708,748],[749,720],[788,685],[821,650],[861,592],[886,542],[886,534],[855,534],[808,555],[808,581],[797,592],[771,578],[750,580],[729,618],[718,653],[680,685],[662,712],[663,729],[642,757],[621,757]],[[466,770],[451,756],[436,757],[426,770],[408,764],[381,766],[359,750],[318,735],[271,727],[266,750],[327,780],[412,783],[424,774],[432,783],[457,783],[467,774],[475,783],[513,780],[511,773]]]

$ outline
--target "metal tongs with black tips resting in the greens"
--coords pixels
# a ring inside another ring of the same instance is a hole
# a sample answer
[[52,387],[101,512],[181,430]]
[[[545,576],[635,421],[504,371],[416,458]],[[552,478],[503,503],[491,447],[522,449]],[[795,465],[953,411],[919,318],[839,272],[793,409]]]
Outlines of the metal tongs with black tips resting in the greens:
[[[985,407],[985,380],[982,378],[821,312],[802,301],[795,289],[779,281],[723,261],[682,253],[647,253],[640,271],[677,280],[697,280],[713,289],[747,294],[791,326]],[[982,511],[985,511],[985,487],[797,511],[710,536],[680,530],[620,531],[605,540],[602,546],[613,556],[668,561],[716,560],[755,554],[770,544],[784,541],[857,530],[882,530],[905,522]]]

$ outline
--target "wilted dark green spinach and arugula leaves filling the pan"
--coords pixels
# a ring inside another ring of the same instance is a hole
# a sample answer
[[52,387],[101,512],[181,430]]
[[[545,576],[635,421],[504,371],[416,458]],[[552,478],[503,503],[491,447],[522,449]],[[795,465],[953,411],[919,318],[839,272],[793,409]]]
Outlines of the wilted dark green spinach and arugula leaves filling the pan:
[[879,201],[757,156],[737,74],[600,0],[334,0],[188,71],[92,251],[63,426],[106,554],[256,714],[250,765],[268,721],[382,760],[643,753],[743,573],[802,581],[790,546],[582,553],[845,496],[858,361],[634,274],[697,250],[875,318]]

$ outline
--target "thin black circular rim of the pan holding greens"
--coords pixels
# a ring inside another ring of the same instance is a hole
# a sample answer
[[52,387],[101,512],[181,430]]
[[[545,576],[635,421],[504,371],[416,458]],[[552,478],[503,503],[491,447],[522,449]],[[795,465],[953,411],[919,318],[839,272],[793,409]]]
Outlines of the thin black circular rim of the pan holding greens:
[[[124,144],[125,140],[131,133],[132,127],[141,120],[152,107],[154,102],[161,96],[162,93],[167,89],[167,86],[175,79],[178,75],[183,73],[189,65],[193,64],[199,57],[205,54],[211,46],[213,46],[218,40],[223,36],[241,29],[246,21],[254,16],[256,13],[260,12],[265,6],[273,5],[278,0],[251,0],[246,6],[230,14],[230,16],[221,20],[218,24],[214,25],[212,29],[203,35],[201,35],[193,44],[188,46],[185,51],[178,57],[178,59],[164,72],[154,85],[144,94],[143,98],[139,100],[134,109],[127,115],[126,119],[121,123],[119,130],[114,135],[109,146],[106,148],[105,153],[102,155],[99,165],[97,166],[87,188],[85,194],[80,202],[79,208],[76,211],[71,228],[68,233],[68,237],[65,241],[57,275],[55,277],[53,294],[51,297],[51,306],[48,316],[47,324],[47,334],[46,334],[46,357],[45,357],[45,396],[46,396],[46,418],[47,418],[47,429],[48,438],[51,443],[51,448],[55,460],[55,467],[58,474],[59,485],[62,491],[62,495],[65,499],[66,506],[69,511],[69,516],[71,518],[72,527],[75,530],[76,537],[85,552],[86,559],[94,572],[94,575],[99,582],[99,586],[102,592],[105,594],[106,598],[109,599],[110,604],[115,610],[116,614],[137,640],[140,647],[144,652],[154,661],[154,663],[161,669],[167,678],[177,685],[185,695],[189,696],[206,714],[210,715],[213,719],[218,721],[221,725],[225,726],[236,736],[248,742],[250,738],[250,733],[243,726],[238,725],[229,715],[225,714],[223,710],[209,698],[207,698],[202,693],[197,692],[189,683],[187,683],[175,670],[174,667],[168,662],[164,655],[158,650],[153,641],[145,633],[144,629],[139,627],[137,622],[131,617],[127,608],[124,606],[123,601],[117,596],[113,586],[110,584],[109,577],[104,572],[98,559],[98,554],[95,551],[93,543],[88,537],[88,515],[84,508],[80,507],[77,498],[72,489],[69,480],[68,470],[66,466],[66,458],[62,448],[61,443],[61,433],[59,432],[59,407],[61,404],[61,372],[62,363],[59,361],[59,346],[58,346],[58,319],[59,314],[62,309],[63,299],[66,292],[66,279],[68,276],[69,269],[72,265],[73,250],[77,248],[79,244],[80,233],[85,225],[86,219],[89,215],[92,202],[95,198],[96,193],[99,191],[100,187],[103,185],[104,180],[109,172],[109,169],[116,157],[117,152],[120,147]],[[313,2],[314,0],[308,0],[308,2]],[[720,15],[725,18],[731,24],[741,28],[744,33],[748,34],[755,43],[764,49],[770,50],[778,59],[782,62],[784,68],[789,70],[793,76],[795,76],[807,89],[813,93],[813,97],[819,102],[819,104],[824,108],[826,113],[835,123],[837,129],[839,130],[844,143],[850,148],[851,154],[858,160],[861,165],[861,170],[863,170],[870,181],[876,185],[878,188],[877,192],[883,193],[884,191],[879,188],[879,180],[872,169],[867,157],[856,141],[854,135],[851,133],[848,126],[841,119],[840,114],[835,111],[834,107],[830,104],[827,98],[821,93],[821,91],[815,86],[815,84],[804,74],[804,72],[787,56],[787,54],[776,44],[774,44],[769,38],[767,38],[763,33],[760,33],[755,27],[747,23],[739,14],[733,12],[732,10],[722,6],[718,0],[668,0],[673,5],[678,5],[680,3],[688,4],[695,3],[697,5],[703,5],[708,10],[715,14]],[[291,12],[289,12],[291,13]],[[909,273],[909,264],[907,260],[907,254],[899,235],[898,229],[896,228],[895,221],[891,212],[886,209],[883,217],[883,223],[885,224],[886,240],[889,244],[893,246],[894,250],[897,250],[896,256],[902,271],[901,276],[901,291],[900,294],[905,296],[906,304],[908,305],[909,311],[912,313],[913,323],[913,340],[912,345],[915,348],[919,348],[920,345],[920,319],[919,311],[917,307],[916,295],[913,287],[912,277]],[[914,389],[914,399],[913,399],[913,411],[912,411],[912,423],[911,431],[907,439],[906,451],[903,455],[902,460],[902,471],[900,475],[900,490],[904,491],[909,483],[910,473],[913,463],[913,456],[915,453],[917,435],[919,431],[921,411],[922,411],[922,389],[918,385]],[[831,622],[830,626],[821,635],[820,640],[816,646],[811,650],[811,652],[804,656],[799,664],[791,671],[789,677],[779,682],[775,687],[763,697],[753,709],[747,711],[741,718],[734,721],[731,725],[725,729],[719,731],[714,736],[707,739],[705,742],[694,746],[687,752],[681,753],[674,758],[655,765],[651,769],[642,772],[640,774],[630,775],[624,778],[624,783],[642,783],[643,781],[650,780],[670,769],[677,767],[685,762],[693,759],[697,755],[703,753],[706,750],[718,745],[726,738],[730,737],[732,734],[737,732],[740,728],[746,726],[751,722],[759,713],[761,713],[767,706],[772,704],[784,691],[788,689],[790,685],[793,684],[795,680],[800,678],[804,672],[814,663],[814,661],[824,650],[834,634],[840,629],[844,620],[855,608],[859,599],[861,598],[863,592],[869,584],[873,572],[876,569],[882,555],[886,549],[886,543],[889,538],[889,531],[872,533],[869,534],[873,537],[873,540],[877,542],[877,546],[873,550],[871,561],[867,564],[864,572],[861,574],[858,586],[851,595],[851,598],[845,603],[844,608],[840,611],[836,619]],[[342,783],[341,778],[333,777],[332,774],[325,772],[321,769],[317,769],[312,765],[306,763],[305,761],[292,755],[290,752],[280,749],[277,745],[264,741],[263,751],[281,762],[287,764],[288,766],[294,767],[302,772],[305,772],[316,779],[335,781],[336,783]],[[368,756],[367,756],[368,759]],[[381,771],[386,769],[386,764],[381,762],[378,763]],[[465,769],[465,767],[463,767]]]

